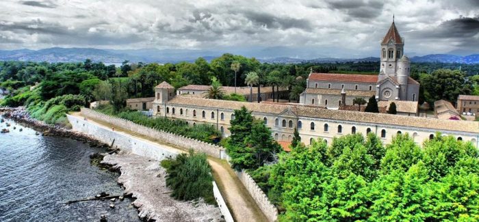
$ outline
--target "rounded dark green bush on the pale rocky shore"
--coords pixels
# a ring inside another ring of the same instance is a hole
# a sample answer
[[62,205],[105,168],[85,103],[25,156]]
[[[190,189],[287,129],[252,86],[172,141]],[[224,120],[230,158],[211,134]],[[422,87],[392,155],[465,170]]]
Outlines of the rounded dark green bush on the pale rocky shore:
[[171,196],[181,200],[203,198],[208,204],[216,204],[213,196],[213,178],[206,154],[178,154],[175,158],[161,161],[166,169],[166,186],[173,192]]

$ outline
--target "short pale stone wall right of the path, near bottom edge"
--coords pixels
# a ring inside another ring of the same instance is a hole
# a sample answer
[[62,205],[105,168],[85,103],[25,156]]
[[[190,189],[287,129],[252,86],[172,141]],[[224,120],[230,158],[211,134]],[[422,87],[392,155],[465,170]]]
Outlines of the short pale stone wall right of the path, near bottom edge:
[[255,180],[253,180],[253,178],[251,178],[251,176],[244,170],[236,172],[236,174],[263,214],[268,218],[268,221],[276,221],[276,219],[278,219],[278,209],[271,204],[270,199],[268,199],[266,194],[261,191]]

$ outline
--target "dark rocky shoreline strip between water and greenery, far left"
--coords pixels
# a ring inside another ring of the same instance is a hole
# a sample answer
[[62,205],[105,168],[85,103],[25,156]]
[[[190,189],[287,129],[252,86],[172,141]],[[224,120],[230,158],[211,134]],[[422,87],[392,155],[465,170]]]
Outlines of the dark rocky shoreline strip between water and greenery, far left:
[[103,147],[109,148],[109,145],[95,139],[94,137],[90,137],[85,133],[80,133],[74,130],[69,130],[62,126],[53,126],[49,124],[45,124],[40,120],[36,120],[30,116],[28,111],[25,110],[23,107],[16,107],[16,108],[0,108],[0,115],[2,118],[14,120],[23,126],[27,126],[29,128],[33,128],[39,132],[42,132],[42,135],[48,136],[58,136],[58,137],[68,137],[71,139],[75,139],[77,141],[83,141],[85,143],[89,143],[90,146],[94,147]]

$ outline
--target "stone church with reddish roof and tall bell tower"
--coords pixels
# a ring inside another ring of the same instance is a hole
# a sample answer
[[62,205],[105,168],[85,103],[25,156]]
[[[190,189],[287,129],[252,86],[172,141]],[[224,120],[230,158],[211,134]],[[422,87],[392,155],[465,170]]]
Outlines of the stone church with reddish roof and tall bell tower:
[[[311,73],[307,89],[300,95],[300,103],[338,109],[341,104],[352,105],[357,97],[366,101],[404,100],[417,102],[419,83],[409,77],[411,61],[404,55],[404,38],[394,22],[380,44],[380,71],[378,75]],[[346,98],[341,100],[341,90]]]

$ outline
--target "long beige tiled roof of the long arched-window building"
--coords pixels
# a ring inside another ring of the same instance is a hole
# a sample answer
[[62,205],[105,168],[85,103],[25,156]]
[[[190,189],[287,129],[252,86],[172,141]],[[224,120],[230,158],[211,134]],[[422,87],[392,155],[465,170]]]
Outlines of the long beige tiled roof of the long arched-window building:
[[389,124],[398,126],[411,126],[417,128],[431,128],[433,130],[453,130],[469,133],[479,133],[479,122],[438,120],[425,117],[413,117],[403,115],[389,115],[383,113],[363,113],[357,111],[342,111],[323,109],[320,107],[271,105],[257,102],[235,102],[226,100],[210,100],[205,98],[190,98],[188,96],[175,96],[167,102],[167,105],[194,105],[197,107],[240,109],[246,107],[253,112],[282,113],[285,109],[291,109],[300,117],[317,117],[330,120],[344,120],[351,122],[364,122],[370,124]]

